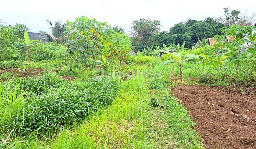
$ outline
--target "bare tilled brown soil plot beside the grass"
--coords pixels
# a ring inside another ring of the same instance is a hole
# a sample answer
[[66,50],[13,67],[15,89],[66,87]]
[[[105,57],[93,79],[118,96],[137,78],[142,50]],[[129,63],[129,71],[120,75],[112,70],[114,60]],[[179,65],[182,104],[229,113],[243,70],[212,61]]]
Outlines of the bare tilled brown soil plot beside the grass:
[[256,148],[256,96],[227,87],[181,85],[175,89],[206,148]]

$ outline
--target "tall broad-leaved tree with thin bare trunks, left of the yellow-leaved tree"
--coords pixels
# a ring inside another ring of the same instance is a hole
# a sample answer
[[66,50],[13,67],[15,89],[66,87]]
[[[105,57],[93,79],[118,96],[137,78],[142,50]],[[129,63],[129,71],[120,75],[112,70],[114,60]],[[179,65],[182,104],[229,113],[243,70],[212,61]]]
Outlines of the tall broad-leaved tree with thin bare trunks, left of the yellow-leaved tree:
[[89,78],[87,65],[90,66],[91,71],[92,62],[96,65],[96,57],[102,55],[103,39],[106,36],[105,30],[110,28],[107,24],[107,22],[99,22],[85,16],[76,18],[75,22],[67,21],[65,29],[69,33],[68,55],[78,54],[80,56],[87,78]]

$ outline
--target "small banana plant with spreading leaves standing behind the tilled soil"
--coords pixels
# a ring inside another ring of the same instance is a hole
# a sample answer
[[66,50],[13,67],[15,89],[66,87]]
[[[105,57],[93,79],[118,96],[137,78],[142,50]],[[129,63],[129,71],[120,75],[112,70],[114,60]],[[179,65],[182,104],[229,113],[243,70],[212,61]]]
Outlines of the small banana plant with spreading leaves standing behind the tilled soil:
[[194,54],[181,54],[181,53],[177,53],[177,52],[174,52],[171,54],[174,56],[174,59],[163,61],[161,64],[166,65],[171,62],[177,62],[178,66],[180,67],[180,81],[183,81],[183,79],[182,79],[182,64],[183,64],[183,62],[195,61],[195,60],[199,60],[200,58],[198,55],[194,55]]

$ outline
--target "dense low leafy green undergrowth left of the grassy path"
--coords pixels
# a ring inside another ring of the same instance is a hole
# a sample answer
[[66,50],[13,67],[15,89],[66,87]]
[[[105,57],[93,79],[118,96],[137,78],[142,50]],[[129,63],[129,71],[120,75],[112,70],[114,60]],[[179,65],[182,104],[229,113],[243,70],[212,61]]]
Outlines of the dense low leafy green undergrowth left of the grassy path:
[[99,77],[68,82],[54,75],[0,84],[1,129],[16,135],[46,133],[86,118],[112,103],[118,79]]

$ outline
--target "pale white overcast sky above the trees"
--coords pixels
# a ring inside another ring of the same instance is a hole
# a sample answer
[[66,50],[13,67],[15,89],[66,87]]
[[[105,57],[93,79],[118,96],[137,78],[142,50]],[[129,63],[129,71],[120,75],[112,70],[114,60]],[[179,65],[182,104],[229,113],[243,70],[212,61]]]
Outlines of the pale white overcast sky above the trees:
[[26,24],[31,32],[49,31],[45,19],[74,21],[86,16],[98,21],[119,25],[129,32],[133,20],[158,19],[161,30],[188,18],[204,20],[223,15],[223,8],[256,13],[256,0],[1,0],[0,19],[8,24]]

